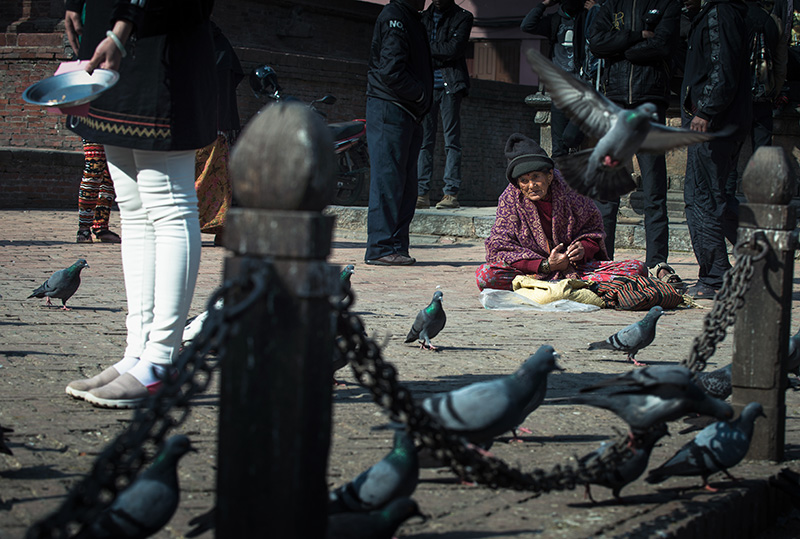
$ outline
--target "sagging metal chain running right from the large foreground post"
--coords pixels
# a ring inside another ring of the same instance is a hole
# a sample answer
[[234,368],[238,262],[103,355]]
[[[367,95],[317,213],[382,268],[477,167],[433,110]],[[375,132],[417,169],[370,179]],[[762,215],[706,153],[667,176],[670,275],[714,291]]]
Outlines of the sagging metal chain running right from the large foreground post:
[[366,386],[376,403],[393,418],[405,423],[414,441],[432,450],[433,455],[450,466],[465,481],[492,488],[511,488],[542,494],[573,489],[576,485],[602,479],[610,470],[633,455],[627,436],[620,436],[598,459],[589,465],[577,460],[575,466],[557,464],[552,470],[523,472],[500,459],[487,456],[464,438],[445,430],[414,402],[411,392],[397,381],[394,366],[381,357],[380,347],[366,336],[357,315],[348,312],[352,293],[338,304],[338,352],[347,358],[356,378]]

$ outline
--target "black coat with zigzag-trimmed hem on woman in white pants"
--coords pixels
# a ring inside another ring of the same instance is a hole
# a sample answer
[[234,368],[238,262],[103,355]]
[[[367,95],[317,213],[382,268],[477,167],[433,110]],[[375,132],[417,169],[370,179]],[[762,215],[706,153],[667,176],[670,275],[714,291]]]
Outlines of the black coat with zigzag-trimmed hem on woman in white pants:
[[[92,57],[112,21],[134,23],[119,82],[89,107],[69,116],[69,128],[86,140],[139,150],[194,150],[217,136],[217,80],[209,16],[213,0],[186,4],[148,0],[86,0],[78,57]],[[165,15],[171,13],[169,17]],[[161,30],[164,33],[159,33]]]

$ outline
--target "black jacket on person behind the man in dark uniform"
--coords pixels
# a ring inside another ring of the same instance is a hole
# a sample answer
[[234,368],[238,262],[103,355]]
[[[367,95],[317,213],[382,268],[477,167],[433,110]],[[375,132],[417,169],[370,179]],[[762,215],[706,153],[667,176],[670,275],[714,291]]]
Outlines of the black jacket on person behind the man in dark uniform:
[[[430,36],[433,33],[433,4],[422,12],[422,24]],[[469,89],[466,50],[472,30],[472,13],[455,4],[442,13],[436,29],[436,41],[429,41],[433,68],[444,78],[445,91],[455,94]]]

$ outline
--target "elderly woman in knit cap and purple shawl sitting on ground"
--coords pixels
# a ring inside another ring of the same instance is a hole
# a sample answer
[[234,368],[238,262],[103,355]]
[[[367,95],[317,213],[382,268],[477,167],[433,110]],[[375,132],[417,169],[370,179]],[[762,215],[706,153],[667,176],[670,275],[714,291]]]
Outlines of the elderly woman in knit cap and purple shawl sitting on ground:
[[608,260],[597,206],[567,186],[534,140],[511,135],[505,153],[509,185],[497,201],[478,288],[511,290],[518,275],[610,281],[648,274],[644,262]]

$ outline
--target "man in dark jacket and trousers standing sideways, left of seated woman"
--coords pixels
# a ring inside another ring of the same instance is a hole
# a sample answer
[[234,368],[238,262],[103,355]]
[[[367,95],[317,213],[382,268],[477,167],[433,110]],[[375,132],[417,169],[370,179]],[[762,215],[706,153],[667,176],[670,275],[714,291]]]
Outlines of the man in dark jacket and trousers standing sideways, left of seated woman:
[[392,0],[375,23],[367,72],[370,160],[365,262],[407,266],[417,202],[422,118],[433,100],[433,67],[420,10],[425,0]]

